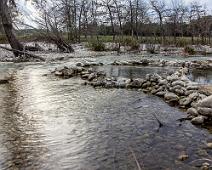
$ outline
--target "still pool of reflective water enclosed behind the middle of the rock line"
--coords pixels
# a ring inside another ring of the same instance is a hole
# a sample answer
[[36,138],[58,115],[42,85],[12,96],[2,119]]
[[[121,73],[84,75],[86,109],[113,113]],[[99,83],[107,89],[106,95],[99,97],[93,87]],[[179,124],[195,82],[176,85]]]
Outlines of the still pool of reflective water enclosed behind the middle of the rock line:
[[146,74],[158,73],[160,75],[172,73],[175,68],[170,67],[139,67],[139,66],[101,66],[98,71],[104,71],[108,76],[125,78],[145,78]]

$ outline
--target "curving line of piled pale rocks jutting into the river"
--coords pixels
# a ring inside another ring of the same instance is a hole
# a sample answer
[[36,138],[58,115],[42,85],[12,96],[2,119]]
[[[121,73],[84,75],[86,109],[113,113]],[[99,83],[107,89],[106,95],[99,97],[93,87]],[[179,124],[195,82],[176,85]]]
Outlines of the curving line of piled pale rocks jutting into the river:
[[[98,63],[91,65],[98,65]],[[212,123],[212,94],[202,91],[197,83],[188,79],[186,74],[189,69],[187,67],[180,68],[169,75],[147,74],[144,79],[128,79],[108,77],[102,71],[82,66],[85,65],[77,64],[72,68],[56,69],[53,74],[63,78],[80,76],[85,80],[85,85],[93,87],[140,89],[145,93],[162,97],[170,104],[187,109],[187,118],[193,124]]]

